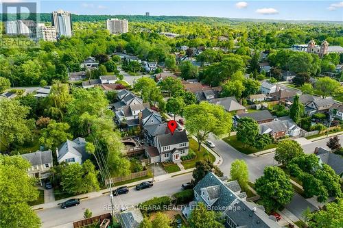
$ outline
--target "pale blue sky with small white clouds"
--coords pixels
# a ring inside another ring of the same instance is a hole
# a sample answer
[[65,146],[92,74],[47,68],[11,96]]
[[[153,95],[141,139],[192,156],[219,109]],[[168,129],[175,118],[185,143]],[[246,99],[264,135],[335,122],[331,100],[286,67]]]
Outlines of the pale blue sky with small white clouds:
[[[19,0],[3,0],[19,1]],[[40,12],[343,21],[343,1],[39,1]]]

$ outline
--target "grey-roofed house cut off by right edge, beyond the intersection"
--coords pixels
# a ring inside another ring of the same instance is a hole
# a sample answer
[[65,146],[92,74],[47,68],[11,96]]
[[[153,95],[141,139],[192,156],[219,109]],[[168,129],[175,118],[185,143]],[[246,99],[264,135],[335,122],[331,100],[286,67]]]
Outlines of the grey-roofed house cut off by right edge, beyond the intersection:
[[319,158],[320,164],[327,164],[335,171],[337,175],[343,178],[343,156],[317,147],[314,151]]

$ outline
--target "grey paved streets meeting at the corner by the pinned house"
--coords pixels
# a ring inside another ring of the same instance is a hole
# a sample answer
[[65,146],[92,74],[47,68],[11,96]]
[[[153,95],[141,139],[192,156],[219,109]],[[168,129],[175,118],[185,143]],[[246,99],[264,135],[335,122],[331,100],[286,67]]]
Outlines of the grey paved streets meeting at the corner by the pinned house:
[[[248,164],[251,181],[255,181],[255,179],[263,175],[263,169],[265,166],[276,164],[273,158],[274,154],[272,153],[268,155],[262,155],[260,157],[252,157],[239,153],[229,144],[226,144],[226,142],[223,140],[217,140],[213,137],[210,137],[210,139],[215,144],[215,151],[222,155],[223,163],[220,166],[220,169],[224,172],[224,175],[229,175],[230,164],[236,159],[242,159],[246,161]],[[340,136],[340,141],[343,143],[343,136]],[[318,140],[310,144],[305,144],[303,149],[305,153],[313,153],[316,147],[326,147],[326,142],[327,139]],[[190,173],[174,177],[166,181],[154,183],[154,187],[151,189],[142,190],[141,192],[131,190],[128,194],[121,196],[120,199],[124,205],[134,205],[153,197],[170,195],[181,190],[180,185],[189,181],[190,179]],[[43,227],[56,227],[63,224],[69,224],[70,227],[71,222],[82,219],[84,210],[86,208],[90,209],[93,212],[93,215],[103,214],[106,212],[106,210],[104,210],[104,205],[108,205],[108,203],[108,195],[104,195],[104,197],[82,201],[78,207],[70,207],[66,210],[62,210],[60,207],[56,206],[47,210],[38,211],[37,214],[43,222]],[[297,195],[294,197],[290,205],[291,206],[289,207],[289,210],[296,216],[299,216],[299,213],[301,213],[302,210],[306,209],[307,206],[310,206],[310,204],[303,199],[303,197],[298,197]]]

